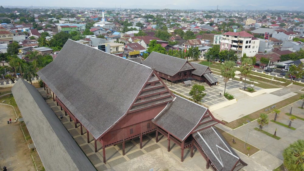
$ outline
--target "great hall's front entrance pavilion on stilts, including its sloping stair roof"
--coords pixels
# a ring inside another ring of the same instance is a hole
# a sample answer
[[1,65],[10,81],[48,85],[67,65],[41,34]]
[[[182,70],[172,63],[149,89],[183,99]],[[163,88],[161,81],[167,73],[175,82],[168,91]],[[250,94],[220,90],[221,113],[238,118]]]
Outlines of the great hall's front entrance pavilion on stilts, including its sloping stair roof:
[[195,146],[206,159],[207,169],[211,166],[213,170],[238,170],[247,166],[213,127],[221,122],[199,104],[176,95],[152,122],[157,125],[156,142],[161,133],[168,138],[168,152],[170,141],[181,147],[181,162],[187,148],[191,149],[190,157],[193,157]]

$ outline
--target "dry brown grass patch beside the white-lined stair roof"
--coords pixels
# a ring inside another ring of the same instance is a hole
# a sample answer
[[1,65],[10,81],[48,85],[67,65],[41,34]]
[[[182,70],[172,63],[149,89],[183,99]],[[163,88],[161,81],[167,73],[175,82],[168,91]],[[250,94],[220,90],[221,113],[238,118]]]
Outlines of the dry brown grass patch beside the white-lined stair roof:
[[[247,155],[247,148],[244,149],[244,145],[245,142],[243,140],[240,140],[236,137],[234,137],[233,135],[223,131],[222,129],[219,129],[216,127],[216,129],[221,133],[221,135],[223,135],[224,139],[228,142],[228,144],[236,149],[237,151]],[[232,138],[234,139],[234,141],[236,142],[235,144],[233,144],[232,142]],[[246,147],[250,147],[250,150],[248,151],[249,156],[253,155],[254,153],[260,151],[260,149],[258,149],[257,147],[250,145],[248,143],[246,143]]]

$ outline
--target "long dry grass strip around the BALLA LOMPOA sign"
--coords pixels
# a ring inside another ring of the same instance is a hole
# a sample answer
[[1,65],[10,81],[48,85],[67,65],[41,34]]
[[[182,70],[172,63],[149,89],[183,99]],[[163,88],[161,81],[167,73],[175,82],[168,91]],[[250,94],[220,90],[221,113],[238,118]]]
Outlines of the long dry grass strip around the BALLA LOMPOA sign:
[[[289,98],[287,98],[285,100],[282,100],[282,101],[280,101],[278,103],[275,103],[276,109],[282,108],[284,106],[287,106],[288,104],[292,104],[293,102],[298,101],[300,96],[301,96],[301,94],[298,93],[295,96],[289,97]],[[272,106],[272,105],[274,105],[274,104],[271,104],[269,106]],[[259,118],[260,117],[260,113],[265,113],[265,108],[260,109],[258,111],[255,111],[255,112],[253,112],[253,113],[251,113],[249,115],[246,115],[246,116],[244,116],[242,118],[239,118],[239,119],[237,119],[235,121],[229,122],[228,124],[226,124],[226,126],[228,126],[231,129],[238,128],[238,127],[242,126],[243,124],[247,124],[247,121],[253,121],[253,120]],[[268,114],[270,114],[270,113],[271,112],[269,112]],[[289,115],[289,113],[288,113],[288,115]]]

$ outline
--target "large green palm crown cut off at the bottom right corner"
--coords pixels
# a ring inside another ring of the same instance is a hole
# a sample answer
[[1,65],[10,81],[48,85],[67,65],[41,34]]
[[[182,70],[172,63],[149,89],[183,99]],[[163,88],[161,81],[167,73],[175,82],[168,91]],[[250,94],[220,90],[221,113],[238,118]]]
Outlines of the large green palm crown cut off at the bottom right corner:
[[283,150],[283,165],[288,170],[304,170],[304,140],[298,139]]

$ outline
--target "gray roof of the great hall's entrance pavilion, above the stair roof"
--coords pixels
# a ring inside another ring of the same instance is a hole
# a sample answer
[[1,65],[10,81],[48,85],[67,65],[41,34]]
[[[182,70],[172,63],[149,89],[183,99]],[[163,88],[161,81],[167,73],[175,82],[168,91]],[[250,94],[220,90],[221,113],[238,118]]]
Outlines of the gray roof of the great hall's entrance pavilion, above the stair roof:
[[176,99],[152,121],[170,132],[180,140],[187,138],[189,133],[199,124],[206,114],[207,108],[175,95]]

